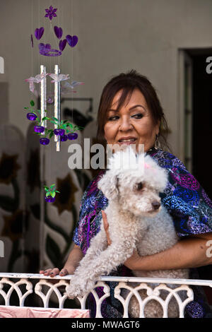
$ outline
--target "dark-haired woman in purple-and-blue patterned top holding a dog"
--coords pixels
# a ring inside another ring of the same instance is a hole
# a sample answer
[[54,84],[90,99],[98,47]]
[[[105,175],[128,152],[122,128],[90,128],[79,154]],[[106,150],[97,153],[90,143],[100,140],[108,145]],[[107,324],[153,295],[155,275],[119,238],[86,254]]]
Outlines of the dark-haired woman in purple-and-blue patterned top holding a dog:
[[[152,256],[140,257],[136,252],[119,266],[115,275],[131,275],[131,270],[168,270],[172,268],[190,268],[190,278],[198,278],[196,269],[212,263],[206,255],[206,242],[212,239],[212,202],[204,189],[186,170],[180,160],[158,146],[167,129],[163,109],[151,83],[145,76],[136,71],[121,73],[112,78],[102,91],[98,109],[98,138],[105,138],[107,144],[144,144],[146,153],[152,156],[169,174],[169,182],[161,201],[170,212],[175,223],[175,229],[180,240],[174,247]],[[74,232],[75,246],[71,251],[64,268],[49,268],[40,271],[45,275],[64,276],[73,274],[79,261],[86,254],[90,239],[100,229],[103,218],[108,245],[110,245],[110,230],[104,211],[107,198],[98,189],[97,183],[101,170],[88,185],[81,199],[78,225]],[[114,275],[114,274],[113,274]],[[111,297],[102,303],[102,316],[122,316],[122,305],[114,299],[113,290],[117,283],[108,283]],[[201,287],[193,287],[194,301],[187,304],[185,316],[212,317]],[[98,288],[101,296],[102,288]],[[90,295],[91,315],[95,316],[93,296]]]

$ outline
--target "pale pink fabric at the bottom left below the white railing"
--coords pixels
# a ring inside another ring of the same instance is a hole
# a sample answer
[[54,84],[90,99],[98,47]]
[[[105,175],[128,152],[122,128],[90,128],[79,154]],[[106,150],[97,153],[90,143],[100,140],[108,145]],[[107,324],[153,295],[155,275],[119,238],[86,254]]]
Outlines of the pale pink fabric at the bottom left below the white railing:
[[90,318],[89,310],[0,306],[0,318]]

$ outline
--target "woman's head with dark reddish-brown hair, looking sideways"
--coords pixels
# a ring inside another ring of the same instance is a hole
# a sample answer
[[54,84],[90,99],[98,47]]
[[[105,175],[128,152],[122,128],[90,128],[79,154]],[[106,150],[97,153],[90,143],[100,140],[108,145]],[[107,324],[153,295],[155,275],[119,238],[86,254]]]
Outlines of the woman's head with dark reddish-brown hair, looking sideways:
[[105,85],[98,109],[97,136],[105,138],[107,144],[136,144],[136,150],[144,144],[145,151],[158,138],[168,148],[165,114],[146,76],[132,70]]

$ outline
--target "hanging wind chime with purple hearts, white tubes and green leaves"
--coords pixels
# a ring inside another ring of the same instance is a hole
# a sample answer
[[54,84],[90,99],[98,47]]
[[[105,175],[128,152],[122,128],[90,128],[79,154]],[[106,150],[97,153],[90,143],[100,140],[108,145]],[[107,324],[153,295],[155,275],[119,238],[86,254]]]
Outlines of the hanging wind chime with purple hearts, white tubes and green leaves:
[[[49,6],[49,8],[45,9],[46,15],[45,18],[49,18],[50,23],[52,25],[52,18],[57,17],[57,8],[53,8]],[[53,28],[53,27],[52,27]],[[53,29],[52,29],[53,30]],[[36,28],[34,35],[37,40],[41,40],[43,34],[45,32],[45,28]],[[50,44],[43,44],[40,42],[38,45],[38,49],[40,54],[45,57],[59,57],[66,45],[68,44],[70,47],[75,47],[78,43],[78,37],[76,35],[66,35],[66,38],[62,40],[63,29],[60,27],[54,26],[54,34],[59,40],[59,49],[52,48]],[[30,36],[31,46],[34,47],[34,39],[33,35]],[[54,98],[52,98],[51,93],[47,93],[47,77],[51,77],[51,83],[54,83]],[[49,144],[50,139],[54,136],[54,142],[56,143],[56,151],[59,152],[61,150],[61,142],[69,140],[75,140],[78,137],[76,131],[82,130],[82,126],[76,126],[71,124],[67,120],[61,120],[61,107],[60,107],[60,97],[61,95],[66,95],[69,93],[76,93],[77,85],[84,84],[83,82],[72,81],[71,83],[65,82],[69,80],[69,74],[61,74],[59,65],[54,65],[54,73],[47,73],[46,66],[40,66],[40,74],[37,74],[35,77],[31,76],[30,78],[25,79],[26,82],[29,83],[29,88],[31,93],[38,97],[40,95],[40,109],[34,109],[35,102],[33,100],[30,101],[30,107],[24,107],[24,109],[28,110],[27,118],[30,121],[37,121],[37,126],[34,126],[34,131],[36,134],[40,136],[40,144],[43,146],[47,146]],[[40,83],[40,90],[35,88],[35,83]],[[49,117],[47,111],[47,102],[50,104],[54,102],[54,117]],[[48,126],[50,124],[54,124],[54,129],[50,129]],[[54,188],[55,184],[52,186],[44,186],[46,191],[45,200],[47,202],[52,202],[55,200],[55,195],[57,191]]]

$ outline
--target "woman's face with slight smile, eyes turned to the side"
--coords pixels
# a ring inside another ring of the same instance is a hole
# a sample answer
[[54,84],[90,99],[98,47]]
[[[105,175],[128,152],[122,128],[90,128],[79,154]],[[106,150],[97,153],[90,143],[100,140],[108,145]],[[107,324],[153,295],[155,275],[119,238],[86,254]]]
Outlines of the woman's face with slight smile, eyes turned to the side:
[[[119,112],[116,111],[120,90],[112,100],[112,106],[107,110],[107,120],[104,126],[107,144],[144,144],[145,152],[154,146],[155,136],[159,132],[159,124],[154,124],[151,111],[146,105],[146,100],[139,89],[135,89],[127,105],[123,105]],[[123,140],[131,138],[131,141]],[[122,141],[120,141],[122,140]]]

